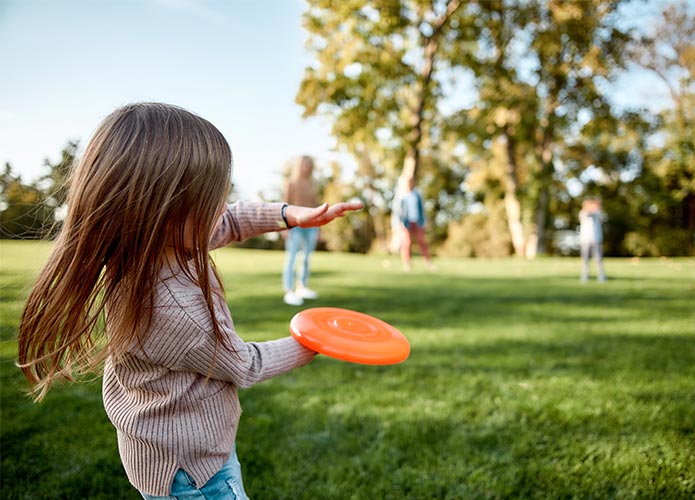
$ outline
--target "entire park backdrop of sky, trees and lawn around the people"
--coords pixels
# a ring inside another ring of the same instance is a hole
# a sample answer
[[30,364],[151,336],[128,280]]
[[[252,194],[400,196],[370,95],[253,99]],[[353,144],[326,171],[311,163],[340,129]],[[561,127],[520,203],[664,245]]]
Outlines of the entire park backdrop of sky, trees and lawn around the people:
[[[98,380],[41,405],[14,367],[65,179],[114,108],[161,100],[230,140],[230,200],[317,158],[316,305],[401,328],[411,358],[319,358],[242,394],[255,498],[692,498],[692,1],[0,4],[3,498],[135,498]],[[386,253],[415,172],[438,271]],[[606,283],[579,283],[602,198]],[[36,241],[27,241],[36,240]],[[48,240],[48,241],[41,241]],[[237,328],[287,334],[280,239],[218,251]],[[569,257],[559,257],[569,255]],[[231,285],[230,285],[231,284]]]

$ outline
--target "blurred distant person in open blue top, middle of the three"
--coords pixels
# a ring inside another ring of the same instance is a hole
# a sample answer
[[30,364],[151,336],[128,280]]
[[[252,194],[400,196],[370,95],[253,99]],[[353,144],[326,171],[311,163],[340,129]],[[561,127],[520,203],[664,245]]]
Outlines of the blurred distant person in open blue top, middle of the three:
[[400,222],[394,232],[400,232],[400,251],[403,269],[410,271],[410,247],[415,238],[427,269],[433,270],[432,257],[425,239],[425,206],[414,177],[401,177],[394,198],[394,220]]

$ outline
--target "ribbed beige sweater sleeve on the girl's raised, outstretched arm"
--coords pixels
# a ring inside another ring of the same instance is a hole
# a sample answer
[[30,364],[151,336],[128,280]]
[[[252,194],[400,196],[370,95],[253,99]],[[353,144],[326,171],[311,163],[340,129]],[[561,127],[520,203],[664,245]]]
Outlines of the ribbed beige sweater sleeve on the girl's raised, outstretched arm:
[[241,201],[228,205],[210,237],[210,250],[283,229],[282,205]]

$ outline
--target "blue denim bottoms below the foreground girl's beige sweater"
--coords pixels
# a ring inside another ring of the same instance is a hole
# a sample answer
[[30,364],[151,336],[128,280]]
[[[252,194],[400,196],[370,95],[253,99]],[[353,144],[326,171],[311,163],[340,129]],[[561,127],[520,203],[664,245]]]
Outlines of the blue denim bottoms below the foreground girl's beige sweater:
[[241,465],[236,447],[229,460],[201,488],[183,469],[179,469],[171,485],[171,495],[157,497],[140,492],[145,500],[248,500],[241,480]]

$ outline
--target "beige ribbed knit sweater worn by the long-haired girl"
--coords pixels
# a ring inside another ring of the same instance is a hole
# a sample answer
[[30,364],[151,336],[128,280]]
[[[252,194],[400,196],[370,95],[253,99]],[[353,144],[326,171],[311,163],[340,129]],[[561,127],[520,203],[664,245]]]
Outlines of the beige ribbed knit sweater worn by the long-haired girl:
[[[230,205],[211,249],[278,230],[281,208],[280,203]],[[169,495],[179,468],[199,487],[204,485],[232,452],[241,416],[237,388],[303,366],[314,357],[289,336],[244,342],[218,295],[215,319],[236,353],[217,346],[215,355],[215,335],[200,288],[167,268],[157,285],[142,347],[133,345],[116,364],[106,362],[104,408],[117,429],[128,479],[142,492]]]

